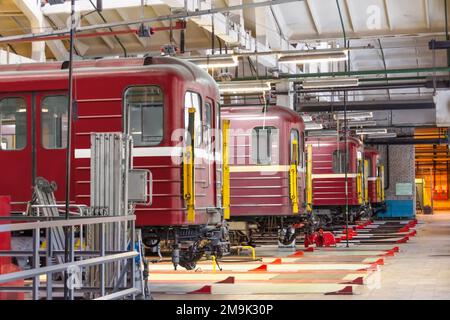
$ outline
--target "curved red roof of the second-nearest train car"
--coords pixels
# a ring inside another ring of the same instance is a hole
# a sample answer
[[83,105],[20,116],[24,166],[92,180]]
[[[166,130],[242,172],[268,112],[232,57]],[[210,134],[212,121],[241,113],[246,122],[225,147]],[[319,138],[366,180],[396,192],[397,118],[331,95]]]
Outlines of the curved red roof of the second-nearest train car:
[[[242,117],[250,117],[250,116],[263,116],[264,107],[259,106],[251,106],[251,107],[222,107],[221,114],[223,117],[227,116],[242,116]],[[281,107],[281,106],[268,106],[265,115],[269,117],[277,117],[280,120],[301,123],[303,125],[302,117],[292,109]]]

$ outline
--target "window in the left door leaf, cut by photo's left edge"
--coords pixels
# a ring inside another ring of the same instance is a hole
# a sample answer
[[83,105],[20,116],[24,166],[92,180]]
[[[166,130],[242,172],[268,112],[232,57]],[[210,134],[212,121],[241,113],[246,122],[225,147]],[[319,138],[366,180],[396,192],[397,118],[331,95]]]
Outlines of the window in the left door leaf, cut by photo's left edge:
[[27,104],[23,98],[0,100],[0,149],[22,150],[27,145]]

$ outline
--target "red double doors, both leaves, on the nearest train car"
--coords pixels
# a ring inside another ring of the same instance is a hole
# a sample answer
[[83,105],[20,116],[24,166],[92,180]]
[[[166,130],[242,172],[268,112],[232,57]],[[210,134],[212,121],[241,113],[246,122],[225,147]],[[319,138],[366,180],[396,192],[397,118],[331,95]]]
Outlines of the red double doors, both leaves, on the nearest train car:
[[[65,195],[67,96],[27,93],[0,97],[0,194],[13,202],[32,197],[36,177],[55,181],[57,200]],[[7,168],[7,169],[6,169]],[[14,209],[23,210],[20,205]]]

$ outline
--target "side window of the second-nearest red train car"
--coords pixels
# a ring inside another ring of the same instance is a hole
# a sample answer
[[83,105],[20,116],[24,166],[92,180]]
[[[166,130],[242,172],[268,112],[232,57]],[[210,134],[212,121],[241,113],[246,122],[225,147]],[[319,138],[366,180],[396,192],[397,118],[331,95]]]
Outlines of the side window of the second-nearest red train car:
[[277,134],[275,127],[256,127],[252,130],[252,161],[258,165],[272,163],[272,143]]

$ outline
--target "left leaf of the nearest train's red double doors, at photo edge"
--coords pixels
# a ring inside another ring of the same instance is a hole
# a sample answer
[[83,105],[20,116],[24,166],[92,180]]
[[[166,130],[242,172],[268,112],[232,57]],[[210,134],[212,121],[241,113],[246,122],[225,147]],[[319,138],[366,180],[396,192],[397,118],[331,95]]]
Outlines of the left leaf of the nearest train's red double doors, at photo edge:
[[32,109],[31,94],[0,96],[0,194],[11,195],[12,202],[31,200]]

